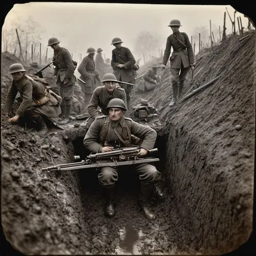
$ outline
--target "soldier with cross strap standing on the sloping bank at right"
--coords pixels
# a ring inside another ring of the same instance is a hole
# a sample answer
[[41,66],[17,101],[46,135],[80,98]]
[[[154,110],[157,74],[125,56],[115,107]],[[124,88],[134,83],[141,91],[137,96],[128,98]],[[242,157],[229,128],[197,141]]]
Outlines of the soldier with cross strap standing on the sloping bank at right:
[[170,49],[173,47],[173,53],[170,56],[170,73],[172,75],[170,80],[173,88],[173,99],[169,103],[170,107],[174,106],[177,99],[181,97],[186,74],[189,68],[194,69],[195,62],[193,47],[190,44],[187,34],[179,31],[181,26],[180,20],[178,19],[172,19],[170,21],[168,27],[172,29],[173,34],[167,37],[162,60],[163,67],[165,68],[170,55]]

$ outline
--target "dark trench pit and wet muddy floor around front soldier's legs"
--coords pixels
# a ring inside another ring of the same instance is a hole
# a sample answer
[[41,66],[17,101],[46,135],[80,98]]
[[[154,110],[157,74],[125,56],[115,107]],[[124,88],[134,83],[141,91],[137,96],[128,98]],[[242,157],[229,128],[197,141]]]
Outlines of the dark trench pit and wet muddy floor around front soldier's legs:
[[[83,137],[74,139],[74,155],[80,160],[90,154],[83,146]],[[151,200],[152,210],[156,212],[157,221],[147,220],[137,206],[140,181],[129,168],[122,168],[115,184],[114,218],[106,218],[103,213],[104,196],[97,180],[96,169],[84,169],[78,172],[82,207],[85,222],[89,224],[91,244],[101,253],[106,254],[177,254],[178,246],[172,237],[176,230],[172,228],[169,211],[173,208],[168,195],[165,179],[166,136],[158,136],[155,148],[159,158],[154,165],[162,173],[162,180],[156,185],[164,194],[163,199],[154,193]],[[177,217],[178,218],[178,217]],[[164,248],[163,248],[164,244]]]

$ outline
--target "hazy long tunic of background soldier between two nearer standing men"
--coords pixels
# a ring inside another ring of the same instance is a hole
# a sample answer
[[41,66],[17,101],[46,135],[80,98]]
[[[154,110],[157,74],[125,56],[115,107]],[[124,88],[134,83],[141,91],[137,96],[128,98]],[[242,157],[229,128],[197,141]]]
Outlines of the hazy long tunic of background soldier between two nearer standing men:
[[92,94],[97,87],[96,76],[98,77],[98,72],[95,71],[95,63],[93,57],[84,57],[77,70],[81,74],[79,78],[86,82],[86,84],[84,84],[78,80],[82,92]]

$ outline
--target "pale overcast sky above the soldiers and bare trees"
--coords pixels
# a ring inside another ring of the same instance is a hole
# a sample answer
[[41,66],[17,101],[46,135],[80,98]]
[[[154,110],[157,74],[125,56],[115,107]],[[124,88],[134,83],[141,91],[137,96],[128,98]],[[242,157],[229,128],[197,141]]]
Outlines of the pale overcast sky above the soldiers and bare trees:
[[[122,46],[133,51],[135,39],[141,31],[159,34],[164,50],[166,38],[172,33],[168,24],[174,18],[181,21],[180,31],[186,32],[189,38],[196,27],[205,26],[209,30],[209,20],[212,29],[219,29],[220,26],[222,31],[226,8],[233,19],[233,7],[224,5],[32,2],[15,4],[6,15],[3,29],[12,29],[15,33],[13,22],[19,20],[22,24],[28,16],[32,16],[45,31],[45,40],[41,42],[45,48],[50,37],[57,37],[61,41],[60,46],[67,48],[74,59],[79,53],[82,57],[86,56],[89,47],[101,47],[104,50],[102,53],[111,58],[113,37],[120,37],[124,42]],[[248,19],[239,12],[236,19],[238,16],[246,27]],[[232,24],[228,15],[226,27],[227,33],[231,33]],[[216,36],[219,36],[218,33]],[[48,52],[51,54],[53,50],[50,48]]]

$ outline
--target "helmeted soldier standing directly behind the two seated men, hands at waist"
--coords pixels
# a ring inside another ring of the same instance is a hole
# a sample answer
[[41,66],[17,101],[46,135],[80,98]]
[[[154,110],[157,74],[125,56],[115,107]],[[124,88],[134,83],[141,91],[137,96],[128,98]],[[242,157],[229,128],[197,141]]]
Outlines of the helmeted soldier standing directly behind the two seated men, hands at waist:
[[[112,40],[111,45],[115,47],[112,50],[112,59],[111,66],[113,68],[113,74],[116,76],[117,80],[121,82],[129,82],[135,84],[136,73],[138,70],[138,65],[136,64],[136,60],[132,54],[132,52],[126,48],[122,47],[122,40],[119,37],[115,37]],[[132,91],[131,86],[126,86],[120,84],[126,93],[126,102],[127,109],[130,109],[131,96],[130,93]]]

